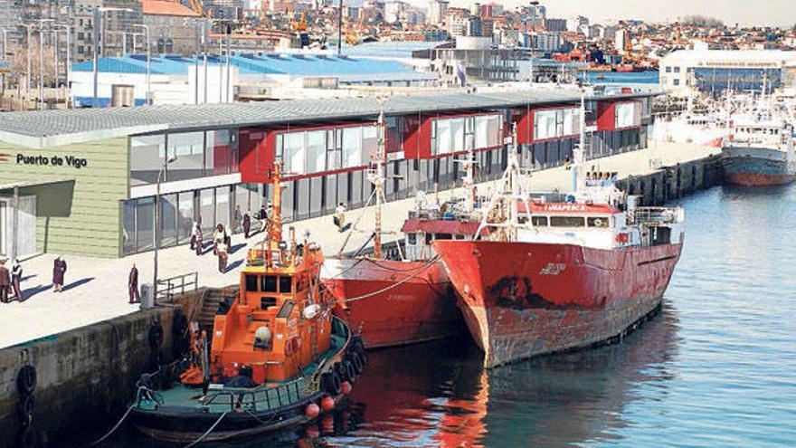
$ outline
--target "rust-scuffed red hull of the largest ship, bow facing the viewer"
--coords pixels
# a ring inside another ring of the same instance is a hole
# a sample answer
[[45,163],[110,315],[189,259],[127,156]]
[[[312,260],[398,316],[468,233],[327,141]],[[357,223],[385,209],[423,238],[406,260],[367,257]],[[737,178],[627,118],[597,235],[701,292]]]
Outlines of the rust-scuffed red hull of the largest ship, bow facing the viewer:
[[681,244],[603,250],[572,244],[441,241],[484,365],[621,335],[660,304]]

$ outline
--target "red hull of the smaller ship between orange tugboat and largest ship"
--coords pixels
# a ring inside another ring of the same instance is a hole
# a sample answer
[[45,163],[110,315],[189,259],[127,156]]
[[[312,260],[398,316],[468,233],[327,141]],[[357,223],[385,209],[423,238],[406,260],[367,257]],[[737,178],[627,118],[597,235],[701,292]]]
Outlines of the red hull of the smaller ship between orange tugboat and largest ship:
[[447,338],[462,329],[440,262],[330,258],[321,281],[337,300],[335,314],[362,336],[366,348]]

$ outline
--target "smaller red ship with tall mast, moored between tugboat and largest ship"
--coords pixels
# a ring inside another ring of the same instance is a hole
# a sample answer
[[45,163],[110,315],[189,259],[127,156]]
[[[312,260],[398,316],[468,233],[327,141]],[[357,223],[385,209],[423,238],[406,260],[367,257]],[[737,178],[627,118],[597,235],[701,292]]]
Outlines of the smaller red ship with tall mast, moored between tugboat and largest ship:
[[[379,118],[380,136],[384,115]],[[368,172],[374,193],[375,223],[372,255],[340,254],[324,262],[321,281],[337,300],[336,315],[346,320],[367,348],[385,348],[447,338],[462,328],[461,313],[445,268],[431,243],[437,239],[464,239],[475,234],[478,222],[467,221],[460,211],[469,201],[426,202],[418,195],[417,207],[404,222],[404,243],[384,256],[381,209],[384,199],[384,138]],[[468,166],[469,167],[469,166]],[[469,172],[469,170],[468,170]],[[471,184],[466,176],[465,184]],[[353,228],[350,232],[355,232]],[[350,237],[351,234],[348,236]],[[348,239],[346,238],[346,243]],[[369,241],[368,241],[369,243]]]

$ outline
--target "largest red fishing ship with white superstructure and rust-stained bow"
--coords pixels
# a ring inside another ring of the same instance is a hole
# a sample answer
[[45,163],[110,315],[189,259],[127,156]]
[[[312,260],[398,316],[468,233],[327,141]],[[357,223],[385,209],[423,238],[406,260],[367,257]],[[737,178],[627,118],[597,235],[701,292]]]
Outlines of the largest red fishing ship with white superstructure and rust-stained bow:
[[582,148],[575,161],[575,194],[545,202],[530,199],[510,157],[482,211],[488,235],[433,243],[486,367],[621,335],[666,291],[683,210],[636,207],[608,181],[587,186]]

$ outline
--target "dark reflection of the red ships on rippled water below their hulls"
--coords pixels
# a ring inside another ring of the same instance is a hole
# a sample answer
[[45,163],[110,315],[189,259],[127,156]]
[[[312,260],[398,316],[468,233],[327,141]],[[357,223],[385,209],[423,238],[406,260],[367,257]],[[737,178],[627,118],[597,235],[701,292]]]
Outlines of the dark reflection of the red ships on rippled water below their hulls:
[[351,396],[364,421],[326,441],[456,447],[611,439],[626,424],[626,405],[666,395],[677,332],[676,311],[665,305],[620,344],[489,372],[467,340],[376,352]]

